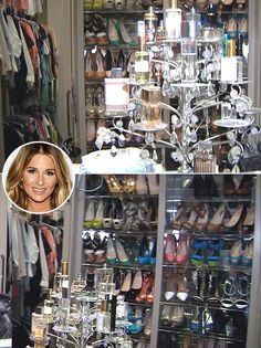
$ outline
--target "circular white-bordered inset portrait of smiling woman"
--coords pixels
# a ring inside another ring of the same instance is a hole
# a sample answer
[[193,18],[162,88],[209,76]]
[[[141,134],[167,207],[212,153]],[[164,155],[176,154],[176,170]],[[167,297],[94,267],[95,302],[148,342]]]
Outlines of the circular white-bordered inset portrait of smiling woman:
[[61,208],[75,182],[73,165],[58,146],[33,141],[18,147],[2,171],[6,194],[19,209],[48,213]]

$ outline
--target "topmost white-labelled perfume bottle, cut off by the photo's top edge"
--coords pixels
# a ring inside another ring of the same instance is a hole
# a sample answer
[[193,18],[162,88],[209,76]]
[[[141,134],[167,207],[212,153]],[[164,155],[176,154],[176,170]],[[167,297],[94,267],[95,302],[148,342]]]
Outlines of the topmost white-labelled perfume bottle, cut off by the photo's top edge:
[[181,35],[181,10],[177,7],[177,0],[173,0],[170,9],[166,9],[167,40],[179,39]]

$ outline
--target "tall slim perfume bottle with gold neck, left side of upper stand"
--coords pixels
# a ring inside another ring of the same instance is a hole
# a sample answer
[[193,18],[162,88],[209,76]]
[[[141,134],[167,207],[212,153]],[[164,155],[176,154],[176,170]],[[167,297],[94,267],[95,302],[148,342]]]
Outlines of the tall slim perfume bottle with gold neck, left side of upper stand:
[[146,83],[149,80],[149,54],[146,52],[145,22],[138,21],[138,50],[135,52],[135,80]]

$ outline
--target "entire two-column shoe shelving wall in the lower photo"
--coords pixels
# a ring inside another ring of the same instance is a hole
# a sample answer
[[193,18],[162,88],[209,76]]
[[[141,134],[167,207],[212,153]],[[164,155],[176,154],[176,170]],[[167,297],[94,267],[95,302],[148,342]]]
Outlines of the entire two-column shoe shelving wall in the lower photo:
[[92,289],[96,270],[113,268],[135,348],[254,347],[259,176],[79,179],[70,274]]

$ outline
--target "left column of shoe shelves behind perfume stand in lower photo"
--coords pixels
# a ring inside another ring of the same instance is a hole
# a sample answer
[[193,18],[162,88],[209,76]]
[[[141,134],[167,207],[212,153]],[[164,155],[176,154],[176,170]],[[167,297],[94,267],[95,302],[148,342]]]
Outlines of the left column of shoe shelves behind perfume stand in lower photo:
[[82,273],[87,289],[92,291],[95,268],[114,270],[115,294],[123,295],[128,306],[127,333],[134,347],[140,341],[149,347],[158,178],[112,175],[98,178],[103,184],[92,182],[92,192],[85,197]]

